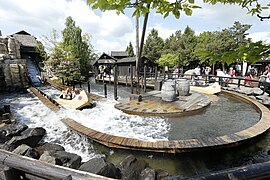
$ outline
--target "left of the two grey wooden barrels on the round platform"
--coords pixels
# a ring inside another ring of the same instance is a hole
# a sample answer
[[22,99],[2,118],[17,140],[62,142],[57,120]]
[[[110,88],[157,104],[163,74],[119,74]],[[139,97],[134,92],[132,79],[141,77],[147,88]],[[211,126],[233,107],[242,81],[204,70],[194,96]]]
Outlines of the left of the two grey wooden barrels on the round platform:
[[175,100],[175,82],[173,80],[167,80],[164,82],[161,88],[161,98],[163,101],[167,102],[172,102]]

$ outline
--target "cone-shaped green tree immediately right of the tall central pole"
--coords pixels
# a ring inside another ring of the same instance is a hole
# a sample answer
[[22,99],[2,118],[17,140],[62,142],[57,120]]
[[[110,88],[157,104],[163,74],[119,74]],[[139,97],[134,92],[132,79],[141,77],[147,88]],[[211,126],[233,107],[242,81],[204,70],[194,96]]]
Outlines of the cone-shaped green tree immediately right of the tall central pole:
[[163,39],[158,36],[158,31],[156,29],[152,29],[146,39],[143,55],[148,59],[157,61],[161,57],[163,47]]

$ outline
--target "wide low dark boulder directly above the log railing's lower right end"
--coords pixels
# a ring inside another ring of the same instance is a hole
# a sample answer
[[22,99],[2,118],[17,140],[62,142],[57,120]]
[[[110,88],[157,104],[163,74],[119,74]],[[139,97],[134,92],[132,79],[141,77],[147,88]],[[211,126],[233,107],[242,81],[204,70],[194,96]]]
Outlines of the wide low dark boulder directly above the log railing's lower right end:
[[106,162],[103,158],[93,158],[82,164],[79,170],[114,179],[121,178],[120,170],[116,168],[112,163]]

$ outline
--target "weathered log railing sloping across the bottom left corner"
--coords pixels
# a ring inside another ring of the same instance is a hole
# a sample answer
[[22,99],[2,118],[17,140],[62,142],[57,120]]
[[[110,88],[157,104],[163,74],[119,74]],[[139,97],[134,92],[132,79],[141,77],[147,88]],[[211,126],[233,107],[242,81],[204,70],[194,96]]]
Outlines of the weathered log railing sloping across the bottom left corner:
[[63,180],[89,180],[110,179],[100,175],[79,171],[67,167],[49,164],[29,157],[0,150],[0,164],[4,166],[6,180],[16,179],[63,179]]

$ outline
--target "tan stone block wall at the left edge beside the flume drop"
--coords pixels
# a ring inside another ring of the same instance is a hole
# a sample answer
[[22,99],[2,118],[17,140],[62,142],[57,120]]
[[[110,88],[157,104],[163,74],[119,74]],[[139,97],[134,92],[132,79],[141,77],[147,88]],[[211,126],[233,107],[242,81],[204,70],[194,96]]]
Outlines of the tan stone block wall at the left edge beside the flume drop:
[[13,37],[0,36],[0,91],[21,90],[29,86],[26,60],[20,58],[20,43]]

